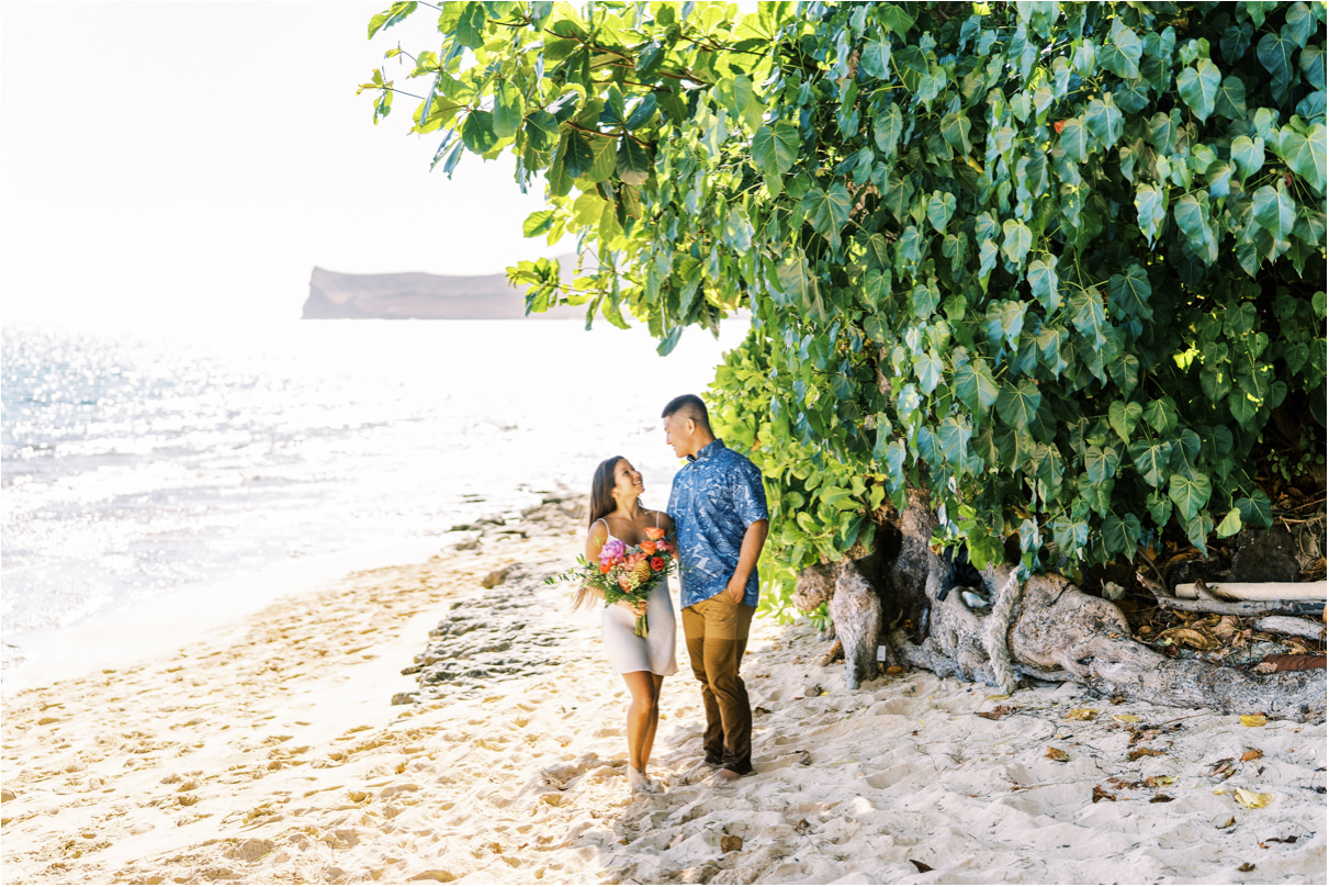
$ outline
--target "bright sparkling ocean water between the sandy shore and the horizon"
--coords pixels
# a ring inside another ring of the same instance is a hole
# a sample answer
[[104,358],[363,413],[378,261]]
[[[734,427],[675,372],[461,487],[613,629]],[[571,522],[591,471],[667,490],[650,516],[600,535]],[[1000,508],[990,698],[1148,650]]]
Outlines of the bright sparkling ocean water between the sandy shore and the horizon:
[[[746,323],[335,320],[3,332],[0,622],[60,629],[302,557],[421,544],[621,453],[663,507],[658,419]],[[441,540],[440,540],[441,541]]]

